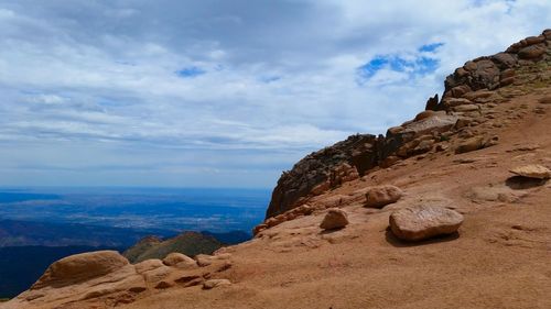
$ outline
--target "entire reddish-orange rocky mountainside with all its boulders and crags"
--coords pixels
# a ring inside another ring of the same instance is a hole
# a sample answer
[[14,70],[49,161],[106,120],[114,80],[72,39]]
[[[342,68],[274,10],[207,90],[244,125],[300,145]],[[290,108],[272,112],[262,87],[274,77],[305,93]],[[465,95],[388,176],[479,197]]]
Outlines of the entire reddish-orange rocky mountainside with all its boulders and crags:
[[66,257],[0,308],[551,308],[551,30],[444,85],[284,172],[251,241]]

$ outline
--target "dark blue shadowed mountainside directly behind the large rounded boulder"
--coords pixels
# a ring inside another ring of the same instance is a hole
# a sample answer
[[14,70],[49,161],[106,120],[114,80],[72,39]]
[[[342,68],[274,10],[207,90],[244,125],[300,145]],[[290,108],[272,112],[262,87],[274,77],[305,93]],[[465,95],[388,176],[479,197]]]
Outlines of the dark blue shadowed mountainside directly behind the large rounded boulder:
[[[3,225],[2,225],[3,227]],[[53,262],[68,255],[97,251],[95,246],[8,246],[0,247],[0,298],[11,298],[28,289]]]

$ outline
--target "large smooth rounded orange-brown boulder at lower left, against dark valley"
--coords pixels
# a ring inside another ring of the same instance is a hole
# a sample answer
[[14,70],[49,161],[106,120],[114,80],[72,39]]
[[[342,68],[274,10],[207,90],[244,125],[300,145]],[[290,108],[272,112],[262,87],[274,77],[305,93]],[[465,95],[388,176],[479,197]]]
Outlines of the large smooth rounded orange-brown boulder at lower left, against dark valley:
[[126,265],[129,265],[128,260],[116,251],[96,251],[71,255],[50,265],[32,288],[73,285],[107,275]]

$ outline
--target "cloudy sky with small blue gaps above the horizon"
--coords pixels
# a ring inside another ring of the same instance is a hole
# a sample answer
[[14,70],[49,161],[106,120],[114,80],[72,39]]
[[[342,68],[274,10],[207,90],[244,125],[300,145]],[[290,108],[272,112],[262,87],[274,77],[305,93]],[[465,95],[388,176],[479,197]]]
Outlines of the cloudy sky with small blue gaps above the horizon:
[[545,27],[549,0],[0,0],[0,186],[271,188]]

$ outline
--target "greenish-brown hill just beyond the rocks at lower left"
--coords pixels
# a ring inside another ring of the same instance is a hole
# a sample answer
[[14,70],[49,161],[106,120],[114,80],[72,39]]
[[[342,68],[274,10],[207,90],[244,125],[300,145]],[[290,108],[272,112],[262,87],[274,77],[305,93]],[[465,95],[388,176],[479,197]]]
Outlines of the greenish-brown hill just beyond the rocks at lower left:
[[222,246],[223,243],[212,235],[184,232],[164,241],[155,236],[148,236],[125,251],[122,255],[131,263],[138,263],[149,258],[164,258],[171,252],[180,252],[187,256],[212,254]]

